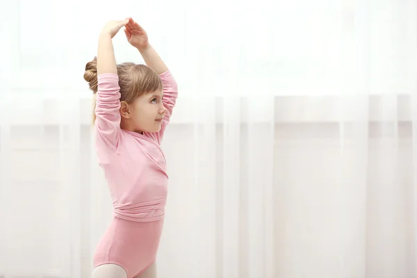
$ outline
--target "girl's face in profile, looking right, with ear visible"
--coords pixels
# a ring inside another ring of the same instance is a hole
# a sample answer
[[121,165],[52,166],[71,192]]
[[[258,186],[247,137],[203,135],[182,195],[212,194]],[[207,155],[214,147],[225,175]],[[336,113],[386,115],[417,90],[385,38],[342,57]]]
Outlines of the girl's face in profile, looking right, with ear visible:
[[122,102],[122,128],[136,132],[160,131],[163,116],[167,111],[163,106],[162,97],[162,90],[156,90],[141,95],[131,104]]

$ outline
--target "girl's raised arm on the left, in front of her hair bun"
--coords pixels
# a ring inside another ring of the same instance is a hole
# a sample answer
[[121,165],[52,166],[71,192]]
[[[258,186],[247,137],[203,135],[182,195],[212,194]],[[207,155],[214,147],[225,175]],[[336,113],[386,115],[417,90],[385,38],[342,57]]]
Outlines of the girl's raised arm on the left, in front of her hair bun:
[[128,22],[128,19],[108,22],[99,35],[95,128],[97,147],[106,152],[117,149],[120,136],[120,87],[112,38]]

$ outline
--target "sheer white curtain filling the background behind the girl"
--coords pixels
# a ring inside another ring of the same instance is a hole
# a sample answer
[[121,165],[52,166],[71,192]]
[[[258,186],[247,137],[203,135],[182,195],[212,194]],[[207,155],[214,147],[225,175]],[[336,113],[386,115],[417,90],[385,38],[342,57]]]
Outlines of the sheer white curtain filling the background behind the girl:
[[[411,0],[1,1],[0,277],[89,277],[85,63],[133,17],[177,78],[158,277],[417,277]],[[118,63],[142,59],[124,34]],[[2,276],[3,275],[3,276]]]

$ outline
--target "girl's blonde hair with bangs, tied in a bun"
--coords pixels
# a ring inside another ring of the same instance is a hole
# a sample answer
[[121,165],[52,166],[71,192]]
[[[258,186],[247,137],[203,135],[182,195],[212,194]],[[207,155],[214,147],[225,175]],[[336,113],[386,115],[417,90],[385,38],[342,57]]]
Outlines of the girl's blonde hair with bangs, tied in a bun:
[[[117,75],[119,76],[120,101],[126,101],[128,104],[131,104],[140,95],[163,88],[159,75],[146,65],[122,63],[117,65]],[[96,119],[95,96],[98,90],[97,57],[85,65],[84,79],[94,94],[92,108],[92,122],[94,123]]]

